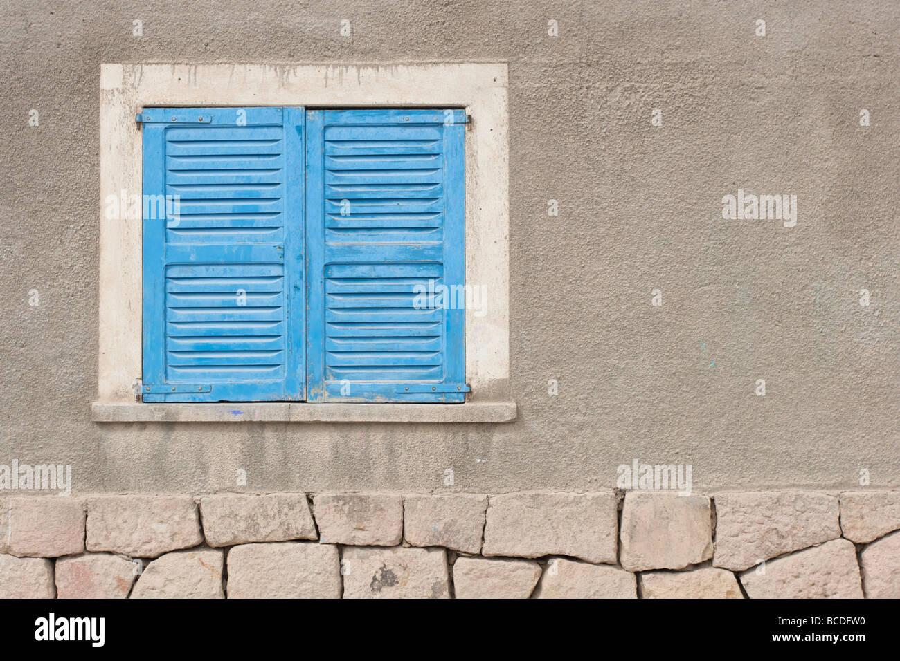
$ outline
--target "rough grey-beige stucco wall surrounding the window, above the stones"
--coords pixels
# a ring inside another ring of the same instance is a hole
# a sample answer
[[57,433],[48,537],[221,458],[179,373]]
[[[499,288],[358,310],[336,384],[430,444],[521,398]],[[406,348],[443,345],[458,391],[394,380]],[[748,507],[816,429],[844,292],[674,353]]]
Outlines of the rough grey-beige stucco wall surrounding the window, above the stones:
[[[0,463],[71,464],[81,493],[234,490],[236,469],[590,490],[633,459],[690,463],[698,491],[900,485],[898,28],[883,1],[6,0]],[[229,61],[509,61],[516,423],[91,422],[100,64]],[[797,227],[723,220],[738,188],[796,194]]]

